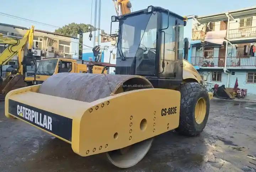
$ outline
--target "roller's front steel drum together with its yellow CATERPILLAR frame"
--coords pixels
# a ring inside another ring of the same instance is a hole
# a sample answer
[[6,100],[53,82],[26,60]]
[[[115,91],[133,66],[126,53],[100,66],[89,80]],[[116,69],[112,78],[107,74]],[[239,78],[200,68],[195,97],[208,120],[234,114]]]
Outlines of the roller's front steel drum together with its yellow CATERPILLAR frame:
[[113,165],[128,168],[154,136],[178,127],[180,97],[137,75],[59,73],[10,91],[5,115],[70,143],[76,154],[105,152]]

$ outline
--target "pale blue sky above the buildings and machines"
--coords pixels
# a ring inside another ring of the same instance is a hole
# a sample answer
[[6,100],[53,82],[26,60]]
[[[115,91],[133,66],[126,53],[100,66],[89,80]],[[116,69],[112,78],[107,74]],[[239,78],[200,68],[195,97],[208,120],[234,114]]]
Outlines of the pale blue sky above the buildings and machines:
[[[1,11],[33,21],[62,27],[69,23],[91,23],[92,0],[1,0]],[[94,0],[93,0],[94,1]],[[132,10],[138,11],[150,5],[169,9],[181,16],[210,15],[219,12],[256,6],[256,0],[130,0]],[[93,9],[94,14],[94,9]],[[102,0],[101,29],[110,32],[111,16],[116,15],[112,0]],[[92,19],[92,24],[93,24]],[[29,28],[54,31],[56,28],[21,21],[0,15],[0,23],[13,24]]]

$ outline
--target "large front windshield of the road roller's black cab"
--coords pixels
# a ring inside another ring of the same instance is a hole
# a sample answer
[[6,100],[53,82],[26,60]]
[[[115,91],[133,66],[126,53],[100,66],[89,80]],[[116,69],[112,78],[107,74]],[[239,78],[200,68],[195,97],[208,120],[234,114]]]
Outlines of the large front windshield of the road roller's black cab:
[[155,75],[157,14],[119,21],[116,74]]

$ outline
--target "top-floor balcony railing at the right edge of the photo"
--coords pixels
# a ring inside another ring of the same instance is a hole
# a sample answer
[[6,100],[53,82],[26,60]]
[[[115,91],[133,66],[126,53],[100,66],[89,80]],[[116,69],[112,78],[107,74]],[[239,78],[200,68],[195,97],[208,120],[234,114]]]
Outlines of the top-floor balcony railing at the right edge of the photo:
[[256,37],[256,27],[230,29],[228,34],[229,39],[250,37]]

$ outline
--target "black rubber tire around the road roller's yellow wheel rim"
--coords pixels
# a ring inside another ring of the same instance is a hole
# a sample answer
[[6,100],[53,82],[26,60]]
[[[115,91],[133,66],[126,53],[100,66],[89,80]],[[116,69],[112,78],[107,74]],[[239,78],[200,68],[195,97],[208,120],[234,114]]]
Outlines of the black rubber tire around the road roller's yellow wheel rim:
[[[197,136],[206,126],[209,116],[210,101],[207,90],[197,82],[188,82],[182,84],[179,91],[181,92],[180,124],[176,131],[186,136]],[[197,124],[194,110],[201,97],[206,101],[206,115],[203,122]]]

